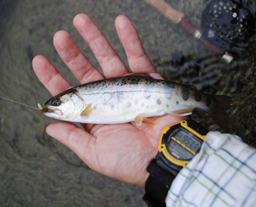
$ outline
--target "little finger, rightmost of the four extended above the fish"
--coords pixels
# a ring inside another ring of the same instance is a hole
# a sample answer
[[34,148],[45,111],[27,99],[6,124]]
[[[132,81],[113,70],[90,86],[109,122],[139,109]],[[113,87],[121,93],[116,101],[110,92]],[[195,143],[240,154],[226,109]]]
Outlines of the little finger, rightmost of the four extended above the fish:
[[126,52],[133,73],[156,73],[132,22],[124,15],[116,18],[117,34]]

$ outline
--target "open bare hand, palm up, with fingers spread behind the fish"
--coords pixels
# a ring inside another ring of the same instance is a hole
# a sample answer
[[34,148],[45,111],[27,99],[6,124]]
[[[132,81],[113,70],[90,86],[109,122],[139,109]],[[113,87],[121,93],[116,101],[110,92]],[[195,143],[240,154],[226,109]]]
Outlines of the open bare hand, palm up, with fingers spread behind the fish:
[[[76,15],[73,23],[105,75],[87,60],[67,32],[58,31],[53,37],[53,44],[60,58],[81,84],[130,73],[88,15]],[[116,18],[115,26],[132,72],[149,73],[154,78],[163,79],[147,57],[129,19],[120,15]],[[34,57],[32,65],[39,80],[53,96],[73,87],[45,57]],[[46,132],[75,152],[92,170],[144,186],[149,175],[146,169],[158,152],[162,129],[183,119],[164,115],[151,118],[155,125],[143,123],[136,126],[134,122],[95,125],[90,133],[72,123],[56,122],[50,124]]]

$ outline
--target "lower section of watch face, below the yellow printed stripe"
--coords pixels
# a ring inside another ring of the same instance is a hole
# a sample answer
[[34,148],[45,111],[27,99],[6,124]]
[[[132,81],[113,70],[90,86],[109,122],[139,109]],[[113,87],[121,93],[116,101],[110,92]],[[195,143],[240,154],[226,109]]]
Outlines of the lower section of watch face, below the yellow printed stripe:
[[189,160],[192,159],[193,155],[185,150],[180,144],[176,141],[171,140],[168,144],[169,152],[173,155],[173,157],[180,160]]

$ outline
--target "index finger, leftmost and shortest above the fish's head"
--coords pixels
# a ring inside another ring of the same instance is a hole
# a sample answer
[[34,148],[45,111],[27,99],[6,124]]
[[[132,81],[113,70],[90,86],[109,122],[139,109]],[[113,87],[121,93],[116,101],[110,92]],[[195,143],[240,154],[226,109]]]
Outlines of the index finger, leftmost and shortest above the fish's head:
[[35,56],[32,66],[38,79],[53,96],[73,87],[44,56]]

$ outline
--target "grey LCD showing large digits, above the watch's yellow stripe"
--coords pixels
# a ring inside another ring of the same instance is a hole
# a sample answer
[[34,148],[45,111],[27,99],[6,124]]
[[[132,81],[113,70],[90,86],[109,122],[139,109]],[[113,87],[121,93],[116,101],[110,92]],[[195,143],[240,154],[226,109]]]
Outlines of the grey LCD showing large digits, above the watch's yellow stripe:
[[184,131],[179,131],[177,134],[174,135],[174,138],[179,140],[181,143],[185,144],[188,148],[192,149],[194,152],[200,148],[201,143],[200,141],[196,140],[195,138],[188,135],[188,133]]

